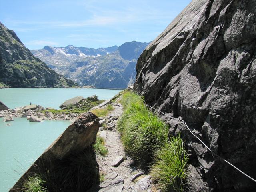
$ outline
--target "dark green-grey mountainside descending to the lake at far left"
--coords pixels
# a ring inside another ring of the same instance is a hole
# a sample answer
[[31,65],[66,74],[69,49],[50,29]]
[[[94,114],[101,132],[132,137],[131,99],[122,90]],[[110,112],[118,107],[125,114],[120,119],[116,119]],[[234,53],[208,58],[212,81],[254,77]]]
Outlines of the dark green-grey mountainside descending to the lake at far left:
[[0,83],[13,88],[73,86],[35,58],[14,31],[0,23]]

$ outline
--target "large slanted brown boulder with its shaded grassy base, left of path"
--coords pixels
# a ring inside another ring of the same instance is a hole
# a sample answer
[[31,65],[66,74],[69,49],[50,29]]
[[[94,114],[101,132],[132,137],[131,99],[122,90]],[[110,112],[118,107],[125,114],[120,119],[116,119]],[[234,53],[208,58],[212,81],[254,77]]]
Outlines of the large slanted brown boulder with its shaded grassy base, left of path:
[[[86,112],[34,162],[10,192],[20,191],[29,176],[40,174],[49,191],[86,191],[98,180],[98,164],[92,150],[99,119]],[[63,174],[64,173],[64,174]]]

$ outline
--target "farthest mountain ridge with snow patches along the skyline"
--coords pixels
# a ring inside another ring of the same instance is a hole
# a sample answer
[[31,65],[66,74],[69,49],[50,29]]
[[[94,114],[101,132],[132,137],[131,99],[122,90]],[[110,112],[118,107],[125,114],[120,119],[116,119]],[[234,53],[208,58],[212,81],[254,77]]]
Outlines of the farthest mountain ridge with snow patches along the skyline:
[[32,54],[44,61],[50,68],[58,72],[62,66],[69,66],[73,62],[87,57],[104,56],[116,51],[118,46],[107,48],[87,48],[74,47],[72,45],[66,47],[45,46],[40,50],[31,50]]

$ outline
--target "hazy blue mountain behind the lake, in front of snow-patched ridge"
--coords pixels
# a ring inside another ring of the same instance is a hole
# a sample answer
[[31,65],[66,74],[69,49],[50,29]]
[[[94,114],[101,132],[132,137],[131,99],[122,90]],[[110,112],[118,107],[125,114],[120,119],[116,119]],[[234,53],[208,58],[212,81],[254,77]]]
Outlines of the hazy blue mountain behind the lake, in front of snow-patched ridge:
[[134,82],[138,56],[148,43],[126,42],[118,50],[99,57],[87,57],[60,68],[60,74],[80,85],[100,88],[126,88]]

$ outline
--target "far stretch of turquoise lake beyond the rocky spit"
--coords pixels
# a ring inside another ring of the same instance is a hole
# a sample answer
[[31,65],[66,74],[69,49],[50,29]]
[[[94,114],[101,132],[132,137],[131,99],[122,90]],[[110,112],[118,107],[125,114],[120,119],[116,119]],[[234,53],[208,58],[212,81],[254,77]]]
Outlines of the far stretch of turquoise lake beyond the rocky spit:
[[8,108],[14,109],[32,104],[42,107],[53,107],[60,109],[59,106],[65,100],[76,96],[88,97],[97,95],[99,99],[110,99],[120,90],[110,89],[86,89],[86,88],[45,88],[45,89],[0,89],[0,101]]

